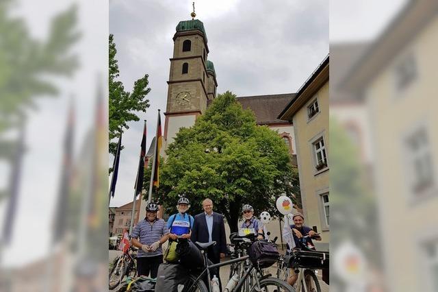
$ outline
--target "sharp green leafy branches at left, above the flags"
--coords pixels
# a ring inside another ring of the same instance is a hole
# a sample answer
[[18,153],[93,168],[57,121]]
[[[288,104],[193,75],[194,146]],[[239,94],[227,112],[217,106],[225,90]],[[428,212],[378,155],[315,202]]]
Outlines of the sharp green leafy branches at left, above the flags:
[[149,99],[146,95],[151,91],[148,87],[149,75],[145,74],[143,77],[134,82],[133,91],[125,91],[123,83],[117,80],[119,76],[119,69],[116,60],[116,44],[114,36],[110,34],[110,78],[108,90],[110,92],[109,101],[109,119],[110,119],[110,153],[115,155],[117,149],[117,141],[112,141],[114,138],[120,136],[124,129],[129,129],[130,121],[139,121],[137,112],[146,112],[149,108]]

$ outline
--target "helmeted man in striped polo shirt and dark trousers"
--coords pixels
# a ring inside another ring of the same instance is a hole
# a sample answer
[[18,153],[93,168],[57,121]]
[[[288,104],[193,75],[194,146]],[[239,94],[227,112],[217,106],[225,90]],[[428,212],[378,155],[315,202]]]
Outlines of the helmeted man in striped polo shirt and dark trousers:
[[138,247],[138,276],[157,278],[158,266],[163,263],[162,244],[168,240],[169,230],[163,219],[157,219],[158,205],[146,205],[146,218],[138,222],[131,233],[132,245]]

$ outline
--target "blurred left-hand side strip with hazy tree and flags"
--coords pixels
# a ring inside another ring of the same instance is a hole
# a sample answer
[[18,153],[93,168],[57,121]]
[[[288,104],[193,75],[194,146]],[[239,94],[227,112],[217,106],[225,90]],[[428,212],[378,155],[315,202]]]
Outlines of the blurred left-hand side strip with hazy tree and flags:
[[107,291],[107,5],[0,3],[0,291]]

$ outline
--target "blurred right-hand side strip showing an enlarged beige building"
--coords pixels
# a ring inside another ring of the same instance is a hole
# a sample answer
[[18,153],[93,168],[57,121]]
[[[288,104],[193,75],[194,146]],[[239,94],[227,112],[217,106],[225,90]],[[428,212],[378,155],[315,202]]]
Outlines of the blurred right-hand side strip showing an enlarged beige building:
[[[400,3],[353,2],[376,11],[332,36]],[[331,41],[331,291],[438,291],[438,2],[404,2]]]

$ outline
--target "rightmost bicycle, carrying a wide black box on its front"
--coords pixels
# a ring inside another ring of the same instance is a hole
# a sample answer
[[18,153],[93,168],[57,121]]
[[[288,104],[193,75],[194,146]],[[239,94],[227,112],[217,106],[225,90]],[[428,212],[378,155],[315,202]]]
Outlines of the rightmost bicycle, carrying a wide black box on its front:
[[316,277],[317,269],[329,268],[329,252],[317,252],[307,248],[309,235],[300,239],[300,249],[293,250],[286,256],[281,256],[277,262],[277,278],[289,278],[289,269],[298,273],[295,282],[297,292],[321,292],[320,282]]

